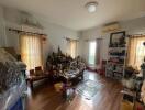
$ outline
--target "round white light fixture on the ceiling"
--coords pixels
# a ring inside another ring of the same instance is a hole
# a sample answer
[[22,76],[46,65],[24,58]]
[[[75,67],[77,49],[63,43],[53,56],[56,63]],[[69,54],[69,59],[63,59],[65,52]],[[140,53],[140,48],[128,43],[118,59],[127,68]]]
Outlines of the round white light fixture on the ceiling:
[[87,10],[92,13],[92,12],[96,12],[97,11],[97,6],[98,6],[98,2],[97,1],[92,1],[92,2],[88,2],[86,3],[86,8]]

